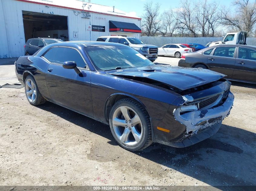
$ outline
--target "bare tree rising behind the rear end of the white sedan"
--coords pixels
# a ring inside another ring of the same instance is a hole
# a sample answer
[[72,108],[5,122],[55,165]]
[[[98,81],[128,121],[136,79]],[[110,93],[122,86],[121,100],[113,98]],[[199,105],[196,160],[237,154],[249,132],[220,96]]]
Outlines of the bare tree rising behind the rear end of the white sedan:
[[181,8],[174,10],[174,17],[178,21],[178,28],[188,31],[193,37],[197,37],[197,21],[194,17],[196,8],[189,0],[181,1]]

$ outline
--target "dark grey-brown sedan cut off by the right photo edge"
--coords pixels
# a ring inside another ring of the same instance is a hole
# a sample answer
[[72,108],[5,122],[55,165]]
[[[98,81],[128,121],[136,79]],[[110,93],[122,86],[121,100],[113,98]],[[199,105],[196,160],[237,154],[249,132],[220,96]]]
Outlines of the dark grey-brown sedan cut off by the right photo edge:
[[256,84],[256,46],[218,45],[182,55],[179,66],[207,68],[227,79]]

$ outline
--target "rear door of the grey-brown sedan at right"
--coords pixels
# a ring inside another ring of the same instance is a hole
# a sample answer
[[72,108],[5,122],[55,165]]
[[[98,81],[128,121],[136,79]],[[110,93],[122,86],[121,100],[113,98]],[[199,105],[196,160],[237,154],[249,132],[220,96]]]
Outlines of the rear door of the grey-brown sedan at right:
[[232,78],[235,67],[235,49],[236,47],[232,46],[215,48],[207,60],[210,70],[225,74],[227,78]]

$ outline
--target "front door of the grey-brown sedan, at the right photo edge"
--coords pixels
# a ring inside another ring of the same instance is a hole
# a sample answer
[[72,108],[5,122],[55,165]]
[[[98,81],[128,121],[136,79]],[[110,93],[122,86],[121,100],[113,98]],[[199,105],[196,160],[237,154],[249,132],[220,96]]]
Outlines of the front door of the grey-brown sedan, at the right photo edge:
[[256,81],[256,51],[254,49],[238,47],[232,78]]

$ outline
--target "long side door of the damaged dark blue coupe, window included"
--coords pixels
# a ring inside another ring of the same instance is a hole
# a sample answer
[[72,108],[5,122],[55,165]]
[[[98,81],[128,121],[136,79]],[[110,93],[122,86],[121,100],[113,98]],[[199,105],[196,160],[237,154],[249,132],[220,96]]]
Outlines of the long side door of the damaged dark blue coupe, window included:
[[[52,47],[53,58],[47,55],[49,66],[45,71],[45,79],[53,102],[75,110],[86,116],[93,116],[91,103],[91,72],[78,49],[72,47]],[[63,68],[63,62],[74,61],[81,74],[74,69]]]

